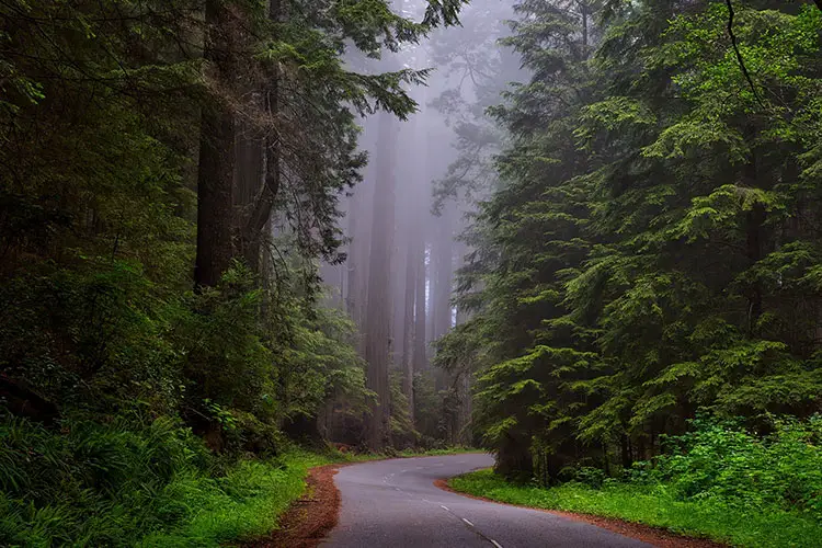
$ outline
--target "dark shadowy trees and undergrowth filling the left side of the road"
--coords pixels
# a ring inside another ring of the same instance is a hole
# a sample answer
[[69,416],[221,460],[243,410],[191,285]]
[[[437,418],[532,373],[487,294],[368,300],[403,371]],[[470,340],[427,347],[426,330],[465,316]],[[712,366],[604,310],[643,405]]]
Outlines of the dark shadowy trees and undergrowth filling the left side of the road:
[[301,472],[238,457],[318,442],[341,399],[362,430],[374,393],[316,263],[362,179],[357,116],[407,117],[426,71],[344,57],[461,3],[2,2],[0,544],[262,534]]

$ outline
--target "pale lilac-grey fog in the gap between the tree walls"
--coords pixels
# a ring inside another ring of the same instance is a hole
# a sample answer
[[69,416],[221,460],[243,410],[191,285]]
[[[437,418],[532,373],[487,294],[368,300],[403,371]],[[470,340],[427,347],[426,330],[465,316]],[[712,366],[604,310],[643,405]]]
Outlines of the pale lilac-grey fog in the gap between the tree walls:
[[[460,406],[469,406],[467,379],[431,370],[432,342],[469,313],[453,298],[471,252],[461,235],[495,184],[492,162],[502,145],[487,109],[503,101],[510,82],[522,80],[518,58],[499,43],[510,31],[512,4],[473,1],[461,26],[380,59],[350,59],[352,69],[367,72],[431,69],[426,85],[408,89],[419,105],[408,119],[381,112],[361,119],[368,165],[343,198],[346,259],[321,266],[332,306],[344,308],[358,328],[369,388],[387,392],[379,369],[401,370],[412,414],[411,379],[422,372],[430,372],[437,390],[452,388],[461,395]],[[402,4],[416,21],[423,9],[421,1]]]

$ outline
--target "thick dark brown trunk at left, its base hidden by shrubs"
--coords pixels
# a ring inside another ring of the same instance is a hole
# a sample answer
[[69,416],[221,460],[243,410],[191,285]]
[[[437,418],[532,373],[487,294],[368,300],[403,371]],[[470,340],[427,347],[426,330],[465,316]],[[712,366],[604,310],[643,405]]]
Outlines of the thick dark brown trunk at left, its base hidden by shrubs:
[[[213,77],[230,92],[237,77],[236,21],[224,2],[206,0],[205,23],[204,58],[214,70]],[[229,101],[214,98],[203,109],[201,123],[194,265],[197,286],[216,285],[235,254],[231,236],[235,162],[235,114]]]

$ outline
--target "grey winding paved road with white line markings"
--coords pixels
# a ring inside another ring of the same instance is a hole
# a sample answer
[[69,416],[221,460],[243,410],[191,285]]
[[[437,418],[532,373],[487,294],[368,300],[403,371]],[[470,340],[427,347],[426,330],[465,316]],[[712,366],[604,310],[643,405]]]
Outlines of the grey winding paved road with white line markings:
[[322,546],[614,547],[650,545],[545,512],[478,501],[434,480],[493,464],[489,455],[403,458],[342,468],[340,522]]

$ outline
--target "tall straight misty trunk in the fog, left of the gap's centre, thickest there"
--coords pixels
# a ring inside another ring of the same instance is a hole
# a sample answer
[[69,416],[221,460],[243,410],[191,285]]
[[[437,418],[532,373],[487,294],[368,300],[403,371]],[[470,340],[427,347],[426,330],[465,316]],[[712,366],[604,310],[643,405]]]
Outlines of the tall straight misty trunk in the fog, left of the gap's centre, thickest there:
[[368,418],[368,445],[375,450],[390,443],[388,361],[391,333],[391,250],[395,228],[395,137],[396,127],[391,115],[380,114],[365,333],[365,358],[368,363],[366,381],[367,387],[377,395]]

